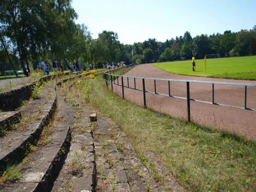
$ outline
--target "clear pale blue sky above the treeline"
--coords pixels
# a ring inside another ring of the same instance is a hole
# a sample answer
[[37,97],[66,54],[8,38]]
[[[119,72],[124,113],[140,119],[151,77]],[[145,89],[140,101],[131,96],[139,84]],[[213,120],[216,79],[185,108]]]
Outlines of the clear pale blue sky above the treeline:
[[73,0],[72,6],[79,15],[76,23],[88,26],[93,38],[108,30],[124,44],[256,25],[256,0]]

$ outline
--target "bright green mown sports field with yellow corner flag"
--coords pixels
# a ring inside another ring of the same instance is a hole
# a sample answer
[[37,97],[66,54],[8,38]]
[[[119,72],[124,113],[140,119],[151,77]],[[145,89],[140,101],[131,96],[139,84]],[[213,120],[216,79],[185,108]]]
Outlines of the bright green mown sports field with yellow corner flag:
[[196,60],[195,64],[198,68],[194,72],[191,60],[152,65],[166,72],[181,75],[256,80],[256,56],[207,59],[207,73],[205,73],[204,59]]

